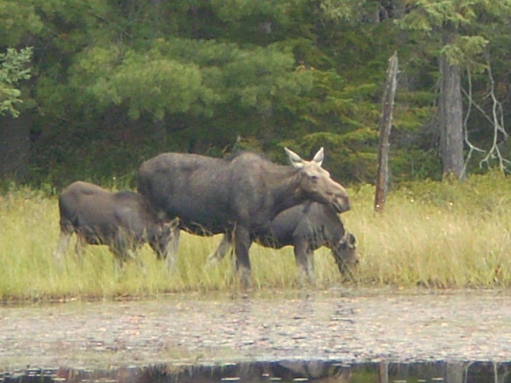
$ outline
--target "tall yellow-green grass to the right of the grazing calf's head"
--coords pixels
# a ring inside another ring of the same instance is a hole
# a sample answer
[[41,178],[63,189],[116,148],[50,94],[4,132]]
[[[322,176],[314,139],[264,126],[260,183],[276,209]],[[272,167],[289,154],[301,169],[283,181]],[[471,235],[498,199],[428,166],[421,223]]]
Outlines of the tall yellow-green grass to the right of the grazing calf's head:
[[498,173],[466,182],[423,181],[370,213],[372,188],[354,194],[346,227],[357,234],[363,283],[438,288],[511,286],[511,183]]

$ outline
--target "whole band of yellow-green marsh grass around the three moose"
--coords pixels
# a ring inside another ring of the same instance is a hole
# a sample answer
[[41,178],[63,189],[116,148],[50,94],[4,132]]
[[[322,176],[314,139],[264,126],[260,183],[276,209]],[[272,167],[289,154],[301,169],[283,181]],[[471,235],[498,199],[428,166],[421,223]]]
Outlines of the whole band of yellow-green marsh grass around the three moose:
[[[466,182],[430,182],[393,190],[381,214],[374,188],[350,190],[346,229],[357,237],[360,265],[342,280],[330,251],[315,252],[316,288],[339,283],[427,288],[511,286],[511,185],[497,173]],[[71,241],[62,267],[52,253],[58,240],[55,197],[18,189],[0,197],[0,297],[6,300],[153,296],[164,292],[237,289],[231,259],[204,268],[218,241],[183,233],[177,270],[169,273],[145,245],[144,268],[128,263],[115,275],[105,246],[88,246],[77,259]],[[293,250],[252,245],[254,289],[295,288]]]

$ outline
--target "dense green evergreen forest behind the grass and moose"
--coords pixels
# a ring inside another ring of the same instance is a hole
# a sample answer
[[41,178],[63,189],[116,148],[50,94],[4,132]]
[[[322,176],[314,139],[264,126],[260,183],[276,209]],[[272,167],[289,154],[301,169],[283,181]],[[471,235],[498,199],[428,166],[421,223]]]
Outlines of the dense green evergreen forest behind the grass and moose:
[[391,180],[507,172],[510,20],[509,0],[0,0],[2,186],[283,146],[373,183],[394,52]]

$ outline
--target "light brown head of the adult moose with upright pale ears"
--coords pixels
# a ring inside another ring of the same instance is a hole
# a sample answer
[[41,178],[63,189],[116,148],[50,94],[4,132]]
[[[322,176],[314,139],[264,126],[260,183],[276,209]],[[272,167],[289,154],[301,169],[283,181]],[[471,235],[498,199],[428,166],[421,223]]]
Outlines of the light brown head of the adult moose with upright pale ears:
[[335,182],[330,173],[321,167],[324,159],[323,148],[319,149],[312,161],[305,161],[288,148],[284,148],[291,164],[300,169],[301,187],[311,199],[334,207],[338,213],[350,210],[350,201],[346,189]]

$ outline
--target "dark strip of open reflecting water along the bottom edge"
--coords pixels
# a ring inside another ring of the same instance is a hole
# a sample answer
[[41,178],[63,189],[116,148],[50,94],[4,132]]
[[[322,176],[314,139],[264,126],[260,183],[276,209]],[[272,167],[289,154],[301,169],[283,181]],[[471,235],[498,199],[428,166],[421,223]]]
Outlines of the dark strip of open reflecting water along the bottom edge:
[[363,363],[279,361],[112,370],[27,369],[1,383],[511,383],[511,363]]

